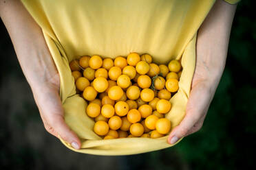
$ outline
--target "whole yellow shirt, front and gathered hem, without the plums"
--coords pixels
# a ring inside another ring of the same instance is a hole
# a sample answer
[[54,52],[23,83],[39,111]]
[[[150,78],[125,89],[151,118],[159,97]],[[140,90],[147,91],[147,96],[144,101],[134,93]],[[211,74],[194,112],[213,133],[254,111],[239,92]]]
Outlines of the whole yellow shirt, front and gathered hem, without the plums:
[[172,128],[182,121],[195,69],[197,31],[215,1],[202,0],[22,0],[43,29],[61,76],[65,121],[82,141],[80,150],[98,155],[139,154],[171,147],[167,136],[101,140],[87,117],[87,103],[76,95],[69,62],[78,56],[115,58],[130,52],[149,53],[154,62],[182,62],[180,89],[166,114]]

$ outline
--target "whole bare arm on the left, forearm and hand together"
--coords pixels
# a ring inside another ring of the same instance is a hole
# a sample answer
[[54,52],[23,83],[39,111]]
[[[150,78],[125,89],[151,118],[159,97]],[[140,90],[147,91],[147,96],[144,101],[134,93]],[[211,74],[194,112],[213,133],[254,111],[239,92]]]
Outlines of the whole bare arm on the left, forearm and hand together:
[[32,19],[21,1],[0,0],[0,16],[12,39],[21,69],[32,88],[45,129],[79,149],[81,142],[78,136],[64,120],[59,96],[60,76],[41,27]]

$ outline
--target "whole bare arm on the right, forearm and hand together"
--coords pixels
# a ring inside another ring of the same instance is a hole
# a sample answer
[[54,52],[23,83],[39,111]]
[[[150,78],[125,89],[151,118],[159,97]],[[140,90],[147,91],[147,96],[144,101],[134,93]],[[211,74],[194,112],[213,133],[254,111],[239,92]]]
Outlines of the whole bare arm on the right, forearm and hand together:
[[186,115],[169,134],[167,141],[170,144],[198,132],[204,123],[224,70],[235,9],[236,5],[216,1],[198,31],[195,73]]

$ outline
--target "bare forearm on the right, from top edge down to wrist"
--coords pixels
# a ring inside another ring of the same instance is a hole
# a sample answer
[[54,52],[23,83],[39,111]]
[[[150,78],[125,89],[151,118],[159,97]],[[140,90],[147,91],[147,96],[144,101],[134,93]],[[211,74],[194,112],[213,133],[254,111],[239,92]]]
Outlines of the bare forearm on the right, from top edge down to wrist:
[[204,71],[199,76],[209,84],[218,83],[224,70],[235,9],[236,5],[216,1],[198,31],[196,69]]

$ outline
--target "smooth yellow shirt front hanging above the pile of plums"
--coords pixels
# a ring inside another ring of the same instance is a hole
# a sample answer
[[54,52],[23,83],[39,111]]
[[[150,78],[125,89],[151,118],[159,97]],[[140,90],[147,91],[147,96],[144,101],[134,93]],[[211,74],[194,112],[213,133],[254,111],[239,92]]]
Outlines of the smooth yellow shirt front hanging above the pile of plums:
[[23,0],[46,34],[65,49],[69,60],[85,54],[115,58],[147,51],[162,63],[180,58],[214,2]]

